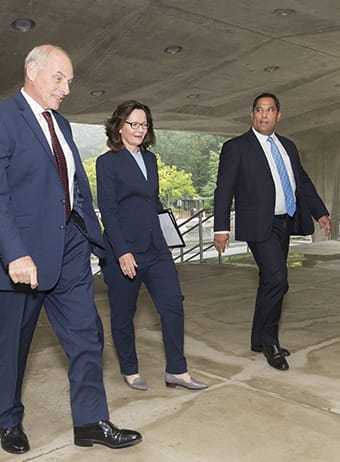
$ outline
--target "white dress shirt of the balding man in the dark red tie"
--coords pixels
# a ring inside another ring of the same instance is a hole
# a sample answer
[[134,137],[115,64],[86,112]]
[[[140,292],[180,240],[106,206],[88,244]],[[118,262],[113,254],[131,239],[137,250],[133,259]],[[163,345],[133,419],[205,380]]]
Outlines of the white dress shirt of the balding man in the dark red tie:
[[[37,121],[38,121],[38,123],[39,123],[39,125],[40,125],[46,139],[47,139],[47,142],[48,142],[48,144],[49,144],[49,146],[51,148],[52,154],[53,154],[50,130],[48,128],[46,119],[42,115],[42,113],[45,112],[46,109],[41,107],[40,104],[37,103],[30,95],[28,95],[23,88],[21,89],[21,93],[22,93],[23,97],[25,98],[25,100],[27,101],[27,104],[29,105],[29,107],[32,109],[32,112],[33,112],[35,118],[37,119]],[[61,148],[63,150],[65,160],[66,160],[67,176],[68,176],[68,189],[69,189],[69,194],[70,194],[70,205],[71,205],[71,210],[72,210],[72,208],[73,208],[73,193],[74,193],[74,174],[75,174],[75,171],[76,171],[75,164],[74,164],[74,159],[73,159],[73,154],[72,154],[70,146],[67,144],[67,142],[66,142],[66,140],[64,138],[64,135],[63,135],[62,131],[59,128],[58,122],[56,121],[56,119],[55,119],[55,117],[53,115],[53,112],[52,111],[48,111],[48,112],[52,116],[54,130],[56,132],[58,141],[59,141],[60,146],[61,146]]]

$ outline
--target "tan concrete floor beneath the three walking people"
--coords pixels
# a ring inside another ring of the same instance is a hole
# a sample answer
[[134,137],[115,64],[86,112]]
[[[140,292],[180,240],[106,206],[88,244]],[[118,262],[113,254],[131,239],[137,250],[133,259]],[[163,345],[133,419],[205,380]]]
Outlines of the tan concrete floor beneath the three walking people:
[[340,460],[340,243],[294,248],[281,343],[290,370],[249,351],[257,270],[251,257],[222,266],[182,265],[186,354],[208,390],[167,389],[155,310],[145,292],[136,325],[140,366],[151,389],[124,385],[109,335],[105,288],[96,298],[105,324],[105,383],[112,421],[144,435],[112,451],[72,442],[66,361],[46,318],[37,329],[26,374],[25,429],[31,451],[3,461],[338,462]]

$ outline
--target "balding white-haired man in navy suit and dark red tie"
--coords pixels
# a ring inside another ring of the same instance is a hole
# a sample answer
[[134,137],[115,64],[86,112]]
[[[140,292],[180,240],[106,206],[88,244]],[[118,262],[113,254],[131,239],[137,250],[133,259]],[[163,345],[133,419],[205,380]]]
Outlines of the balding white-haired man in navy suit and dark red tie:
[[72,79],[64,50],[36,47],[24,87],[0,104],[0,438],[16,454],[29,450],[21,388],[42,304],[69,360],[75,444],[141,440],[109,421],[90,268],[103,243],[70,125],[56,112]]

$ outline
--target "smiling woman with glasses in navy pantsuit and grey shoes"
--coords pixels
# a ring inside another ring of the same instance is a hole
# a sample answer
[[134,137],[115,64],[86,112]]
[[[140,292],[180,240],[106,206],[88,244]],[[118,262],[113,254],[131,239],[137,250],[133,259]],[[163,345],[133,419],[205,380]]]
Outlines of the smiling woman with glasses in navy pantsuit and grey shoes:
[[121,373],[131,388],[148,389],[139,374],[133,325],[143,282],[161,319],[166,384],[206,388],[189,375],[184,357],[183,296],[158,219],[162,204],[156,157],[146,149],[155,141],[149,108],[137,101],[122,103],[107,121],[106,134],[110,151],[97,160],[98,205],[106,246],[103,274]]

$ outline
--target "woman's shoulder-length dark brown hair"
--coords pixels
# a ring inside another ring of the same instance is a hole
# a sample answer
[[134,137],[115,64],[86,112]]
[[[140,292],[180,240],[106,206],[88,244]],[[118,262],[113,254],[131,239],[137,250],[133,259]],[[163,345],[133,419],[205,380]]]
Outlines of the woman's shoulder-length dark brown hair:
[[150,146],[150,144],[155,144],[156,137],[153,130],[152,115],[149,107],[146,106],[146,104],[139,103],[138,101],[129,100],[124,101],[124,103],[121,103],[119,106],[117,106],[112,116],[107,119],[105,123],[107,145],[113,152],[120,151],[124,147],[119,130],[127,121],[131,112],[135,109],[140,109],[145,112],[146,120],[148,123],[148,131],[141,147],[146,149],[148,146]]

